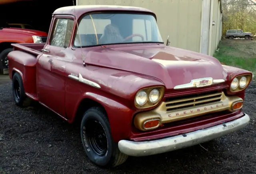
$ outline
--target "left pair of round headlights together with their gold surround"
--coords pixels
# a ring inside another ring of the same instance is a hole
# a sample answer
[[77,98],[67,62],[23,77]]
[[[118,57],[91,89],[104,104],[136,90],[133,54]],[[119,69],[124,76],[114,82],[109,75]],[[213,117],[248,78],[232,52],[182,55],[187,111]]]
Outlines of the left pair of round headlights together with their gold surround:
[[137,108],[147,108],[156,105],[164,94],[164,87],[149,87],[141,89],[136,93],[135,106]]

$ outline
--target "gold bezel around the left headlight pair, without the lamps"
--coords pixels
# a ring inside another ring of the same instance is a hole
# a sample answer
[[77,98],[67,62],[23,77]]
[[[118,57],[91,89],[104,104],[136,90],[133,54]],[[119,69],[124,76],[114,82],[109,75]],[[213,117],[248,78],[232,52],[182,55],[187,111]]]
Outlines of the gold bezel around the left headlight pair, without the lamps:
[[[150,100],[150,93],[155,89],[159,91],[159,97],[156,101],[152,101],[152,100]],[[144,104],[140,105],[139,103],[137,103],[137,96],[142,91],[145,91],[147,93],[147,99],[146,99],[146,102]],[[139,91],[137,91],[137,93],[134,97],[134,105],[138,109],[145,109],[145,108],[153,107],[153,106],[155,106],[159,103],[159,101],[162,99],[163,95],[164,95],[164,87],[162,87],[162,86],[148,87],[148,88],[140,89]]]

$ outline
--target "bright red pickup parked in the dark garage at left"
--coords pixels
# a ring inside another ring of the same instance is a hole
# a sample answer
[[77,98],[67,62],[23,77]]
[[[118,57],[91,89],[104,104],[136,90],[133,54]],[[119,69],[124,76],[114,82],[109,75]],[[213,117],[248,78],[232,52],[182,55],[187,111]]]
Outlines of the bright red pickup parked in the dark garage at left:
[[13,51],[12,43],[45,43],[47,33],[38,30],[12,28],[7,23],[0,24],[0,74],[8,73],[7,55]]

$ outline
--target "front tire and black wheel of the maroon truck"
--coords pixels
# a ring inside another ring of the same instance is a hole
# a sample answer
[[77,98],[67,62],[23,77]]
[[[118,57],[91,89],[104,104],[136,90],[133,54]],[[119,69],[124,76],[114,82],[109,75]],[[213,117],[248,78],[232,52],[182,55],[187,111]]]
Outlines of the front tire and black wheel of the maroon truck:
[[112,139],[110,125],[100,107],[88,109],[81,122],[81,138],[88,158],[101,167],[115,167],[126,161],[128,156],[119,151]]

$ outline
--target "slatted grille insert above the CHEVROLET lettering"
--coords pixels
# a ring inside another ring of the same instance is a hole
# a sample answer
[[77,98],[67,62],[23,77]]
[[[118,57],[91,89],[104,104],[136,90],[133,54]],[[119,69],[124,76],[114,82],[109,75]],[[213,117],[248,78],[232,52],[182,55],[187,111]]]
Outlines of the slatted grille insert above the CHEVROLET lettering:
[[210,91],[206,93],[170,97],[166,99],[166,111],[174,111],[188,107],[206,105],[221,101],[222,91]]

